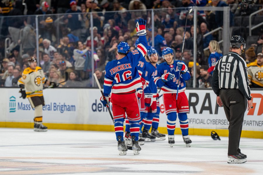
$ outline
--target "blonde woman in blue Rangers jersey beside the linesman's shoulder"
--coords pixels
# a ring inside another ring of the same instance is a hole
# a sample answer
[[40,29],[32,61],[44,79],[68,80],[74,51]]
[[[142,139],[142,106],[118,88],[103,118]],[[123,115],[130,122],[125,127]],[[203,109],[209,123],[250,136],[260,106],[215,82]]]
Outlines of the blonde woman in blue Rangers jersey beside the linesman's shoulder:
[[217,64],[217,61],[223,56],[222,51],[220,50],[219,44],[215,40],[211,40],[209,43],[209,51],[210,55],[208,58],[208,72],[212,75],[214,71],[214,67]]

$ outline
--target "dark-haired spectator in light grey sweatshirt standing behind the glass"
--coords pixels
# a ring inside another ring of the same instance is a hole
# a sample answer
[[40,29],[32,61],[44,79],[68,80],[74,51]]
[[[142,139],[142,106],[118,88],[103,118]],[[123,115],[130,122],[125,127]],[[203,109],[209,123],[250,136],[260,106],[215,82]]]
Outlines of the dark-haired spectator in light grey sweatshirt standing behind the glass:
[[78,42],[78,48],[74,49],[74,60],[75,60],[75,71],[82,80],[85,78],[84,72],[84,64],[85,64],[85,57],[87,55],[88,48],[84,49],[83,43],[81,41]]

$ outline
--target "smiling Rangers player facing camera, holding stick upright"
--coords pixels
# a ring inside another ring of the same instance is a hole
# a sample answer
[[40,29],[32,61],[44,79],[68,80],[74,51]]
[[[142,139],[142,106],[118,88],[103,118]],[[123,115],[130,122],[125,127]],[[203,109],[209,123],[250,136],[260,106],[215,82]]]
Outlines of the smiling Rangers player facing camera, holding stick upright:
[[[165,113],[167,115],[168,143],[172,147],[174,144],[175,121],[178,118],[183,140],[186,147],[190,147],[190,137],[188,135],[189,113],[188,99],[185,95],[185,81],[190,79],[190,72],[184,62],[173,60],[173,50],[169,47],[162,50],[162,57],[165,62],[157,67],[157,76],[154,78],[155,84],[163,91],[163,101]],[[179,71],[181,71],[180,79]],[[178,99],[176,100],[177,84],[179,83]]]

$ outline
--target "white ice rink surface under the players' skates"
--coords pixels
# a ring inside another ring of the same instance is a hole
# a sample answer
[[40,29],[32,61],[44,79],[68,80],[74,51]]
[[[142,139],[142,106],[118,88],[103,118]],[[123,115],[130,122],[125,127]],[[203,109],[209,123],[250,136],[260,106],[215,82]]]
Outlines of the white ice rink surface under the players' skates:
[[244,164],[228,164],[228,138],[175,136],[146,142],[139,155],[120,156],[114,132],[0,128],[0,174],[262,174],[263,139],[241,138]]

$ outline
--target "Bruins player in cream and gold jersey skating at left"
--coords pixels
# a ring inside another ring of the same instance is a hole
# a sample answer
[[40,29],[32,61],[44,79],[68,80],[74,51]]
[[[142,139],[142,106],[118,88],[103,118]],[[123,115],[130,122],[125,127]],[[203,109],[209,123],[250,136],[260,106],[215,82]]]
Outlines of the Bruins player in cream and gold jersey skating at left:
[[27,67],[18,79],[18,85],[23,99],[28,98],[34,111],[34,131],[47,131],[47,127],[42,124],[42,107],[44,104],[43,84],[47,81],[44,71],[37,66],[37,60],[34,57],[28,59]]

